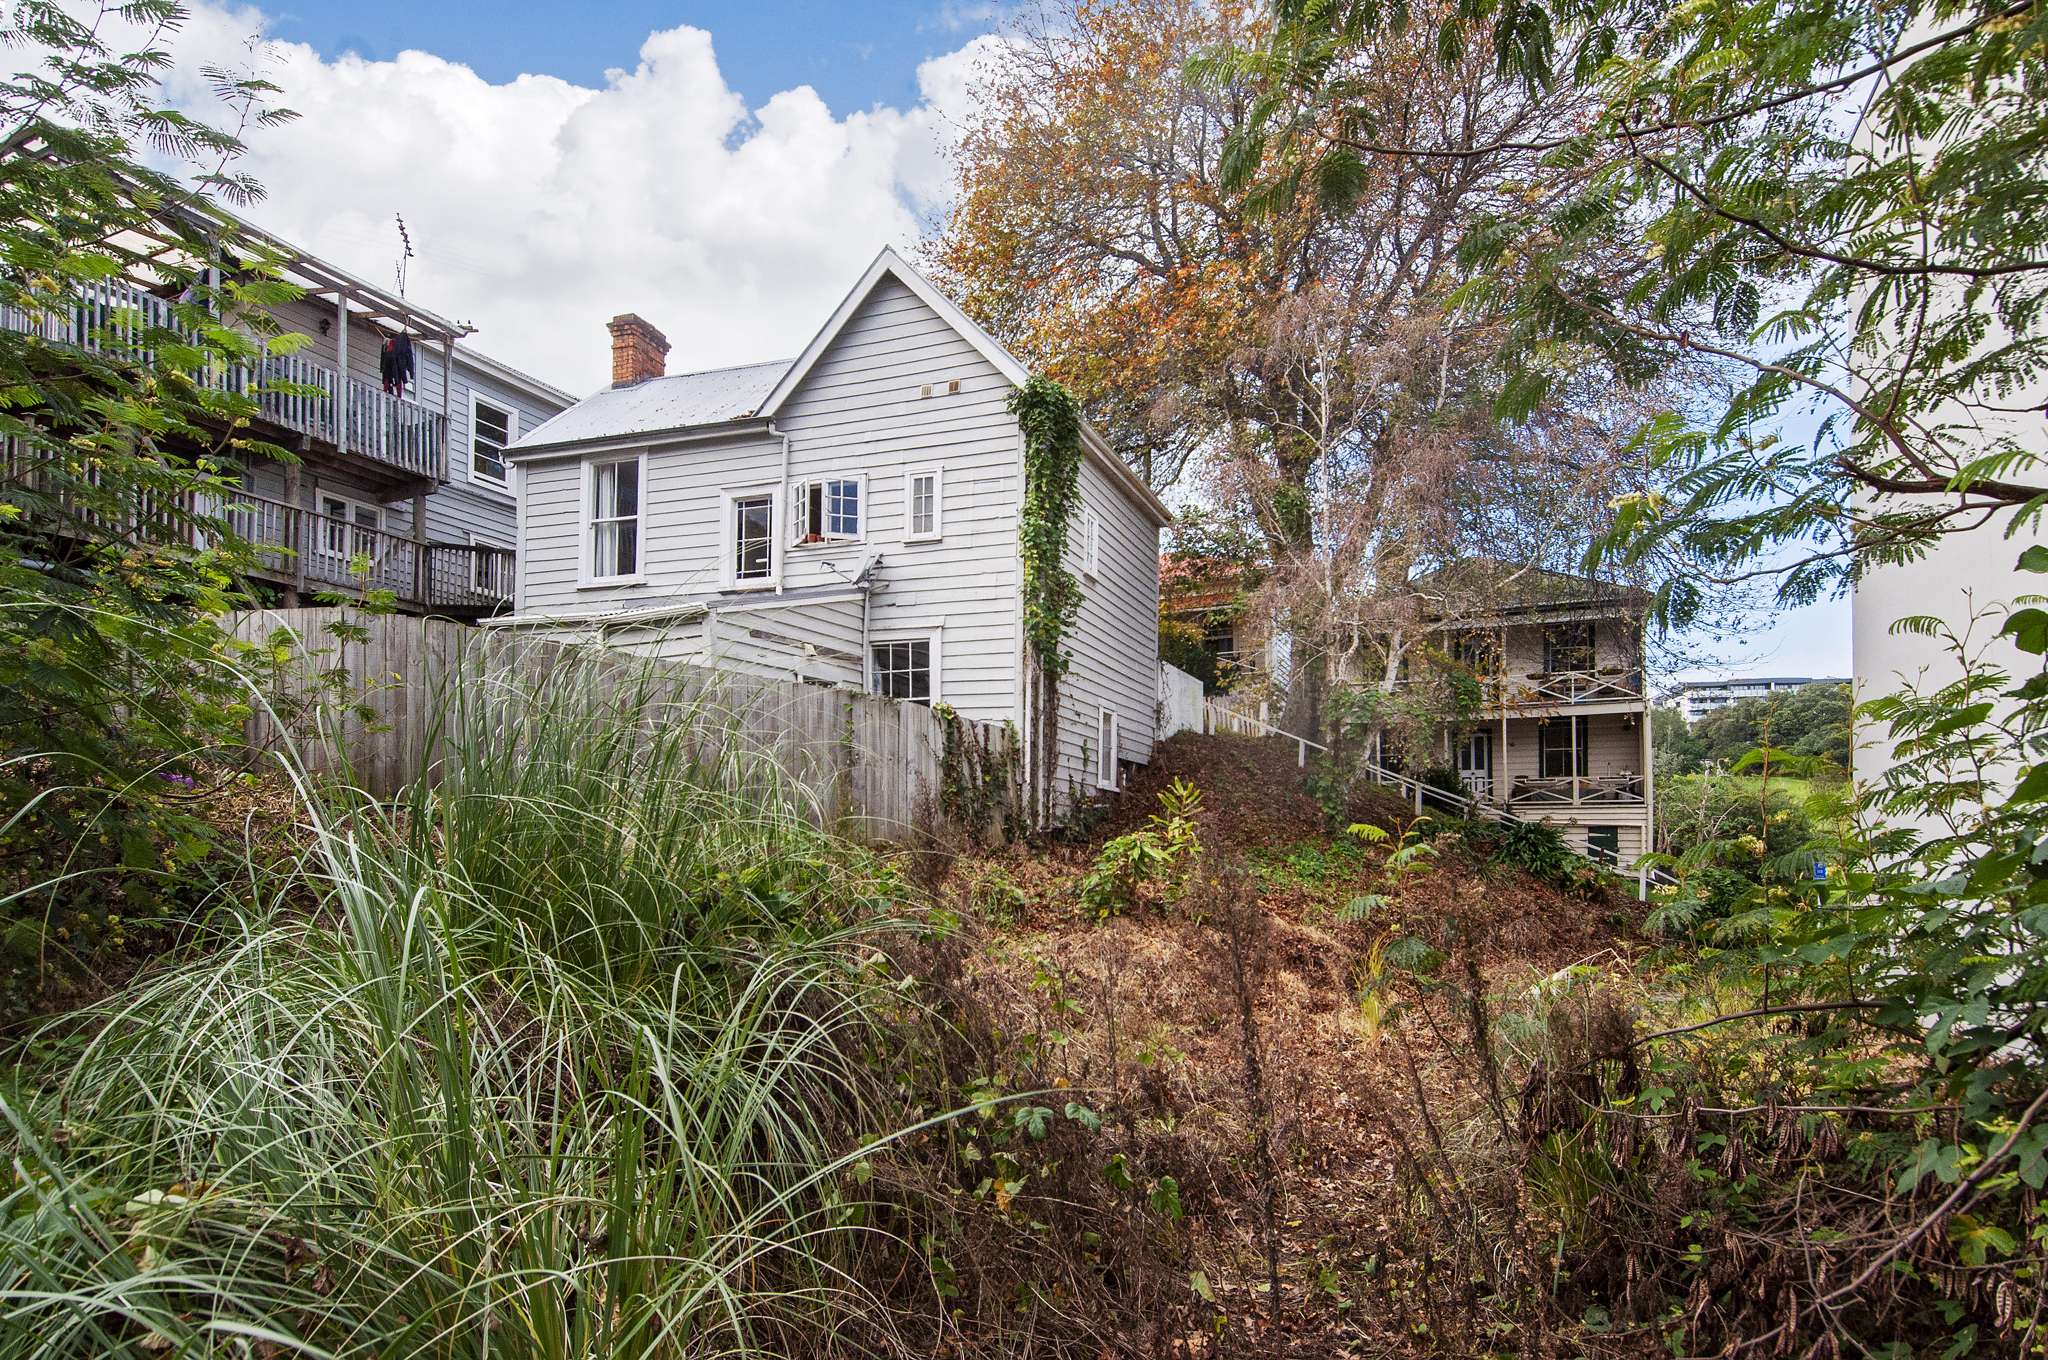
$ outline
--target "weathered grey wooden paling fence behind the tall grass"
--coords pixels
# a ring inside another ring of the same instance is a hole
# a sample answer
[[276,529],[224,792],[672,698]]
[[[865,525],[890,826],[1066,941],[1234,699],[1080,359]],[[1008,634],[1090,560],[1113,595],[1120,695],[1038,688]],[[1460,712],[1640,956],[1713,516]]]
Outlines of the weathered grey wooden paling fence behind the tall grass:
[[[350,778],[373,797],[393,797],[420,774],[432,776],[440,758],[438,700],[463,668],[532,686],[561,662],[596,660],[602,672],[610,672],[600,680],[608,692],[651,684],[678,711],[715,707],[721,723],[733,725],[750,750],[801,789],[823,821],[872,842],[909,842],[940,830],[938,823],[956,821],[944,805],[948,719],[922,705],[494,635],[446,619],[348,610],[352,635],[342,641],[330,631],[342,614],[338,608],[272,608],[229,617],[229,629],[242,641],[262,643],[279,631],[301,639],[295,660],[276,680],[276,696],[285,700],[281,709],[332,688],[371,713],[369,719],[342,715],[340,731],[319,739],[285,731],[276,713],[260,711],[250,719],[248,739],[258,748],[295,741],[301,762],[315,774],[334,774],[346,754]],[[360,635],[354,635],[356,629]],[[338,670],[346,672],[346,680],[324,680]],[[332,705],[326,711],[332,727]],[[967,727],[991,752],[1008,754],[1014,741],[995,723]],[[1016,813],[1014,791],[1001,789],[993,799],[991,825],[950,830],[997,832]]]

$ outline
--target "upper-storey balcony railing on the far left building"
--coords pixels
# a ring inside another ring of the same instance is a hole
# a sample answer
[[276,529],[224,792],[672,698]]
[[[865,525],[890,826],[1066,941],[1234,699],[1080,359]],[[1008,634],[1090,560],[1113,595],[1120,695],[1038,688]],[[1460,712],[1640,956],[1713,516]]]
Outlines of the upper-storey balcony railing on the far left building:
[[[59,311],[29,313],[0,307],[0,328],[139,365],[156,358],[154,350],[143,348],[150,330],[186,334],[170,301],[121,281],[88,285]],[[270,424],[342,453],[356,453],[418,477],[446,477],[446,418],[418,401],[393,397],[377,383],[358,377],[342,381],[328,365],[301,354],[264,354],[250,363],[215,367],[205,375],[205,383],[254,399]],[[287,383],[311,391],[279,391]],[[336,393],[346,401],[346,434]]]

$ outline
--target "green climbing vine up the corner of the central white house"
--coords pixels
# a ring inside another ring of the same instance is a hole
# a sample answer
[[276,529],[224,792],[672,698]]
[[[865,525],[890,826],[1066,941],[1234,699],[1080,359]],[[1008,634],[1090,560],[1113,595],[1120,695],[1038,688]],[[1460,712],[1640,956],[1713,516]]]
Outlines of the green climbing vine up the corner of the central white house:
[[1024,641],[1030,649],[1030,731],[1040,819],[1051,813],[1059,766],[1059,680],[1067,674],[1065,639],[1081,608],[1081,582],[1067,569],[1067,530],[1081,504],[1081,406],[1059,383],[1034,377],[1010,395],[1010,414],[1024,430],[1024,514],[1018,553],[1024,559]]

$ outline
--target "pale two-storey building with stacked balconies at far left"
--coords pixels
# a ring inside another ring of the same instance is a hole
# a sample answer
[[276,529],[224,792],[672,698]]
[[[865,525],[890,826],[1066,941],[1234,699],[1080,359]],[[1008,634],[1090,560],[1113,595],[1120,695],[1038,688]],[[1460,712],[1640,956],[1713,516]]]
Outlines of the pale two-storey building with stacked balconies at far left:
[[[254,397],[248,434],[293,453],[287,463],[227,449],[240,490],[231,504],[203,508],[252,549],[250,582],[285,604],[379,590],[408,612],[473,619],[506,608],[514,498],[502,453],[575,397],[465,344],[475,332],[467,322],[365,283],[217,205],[168,213],[236,250],[274,252],[279,277],[301,291],[264,307],[281,332],[297,336],[295,348],[272,352],[266,342],[262,356],[203,375],[209,387]],[[164,223],[137,225],[133,236],[125,246],[137,254],[178,258],[178,238]],[[109,315],[182,326],[164,287],[137,268],[51,313],[0,309],[0,328],[123,352],[121,334],[106,334]],[[397,338],[412,352],[403,383],[383,365],[385,344]],[[184,449],[186,440],[166,442]],[[184,451],[221,459],[223,449],[213,436]],[[0,457],[12,461],[18,451]],[[33,481],[35,471],[20,463],[10,475]]]

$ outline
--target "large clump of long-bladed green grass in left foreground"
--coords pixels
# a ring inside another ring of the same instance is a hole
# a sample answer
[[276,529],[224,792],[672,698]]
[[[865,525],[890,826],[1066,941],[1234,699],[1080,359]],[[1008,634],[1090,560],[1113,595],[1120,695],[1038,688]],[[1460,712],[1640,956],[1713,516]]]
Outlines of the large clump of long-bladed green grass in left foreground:
[[717,696],[616,680],[465,676],[438,787],[311,801],[203,952],[45,1034],[0,1358],[793,1354],[879,1307],[899,883]]

